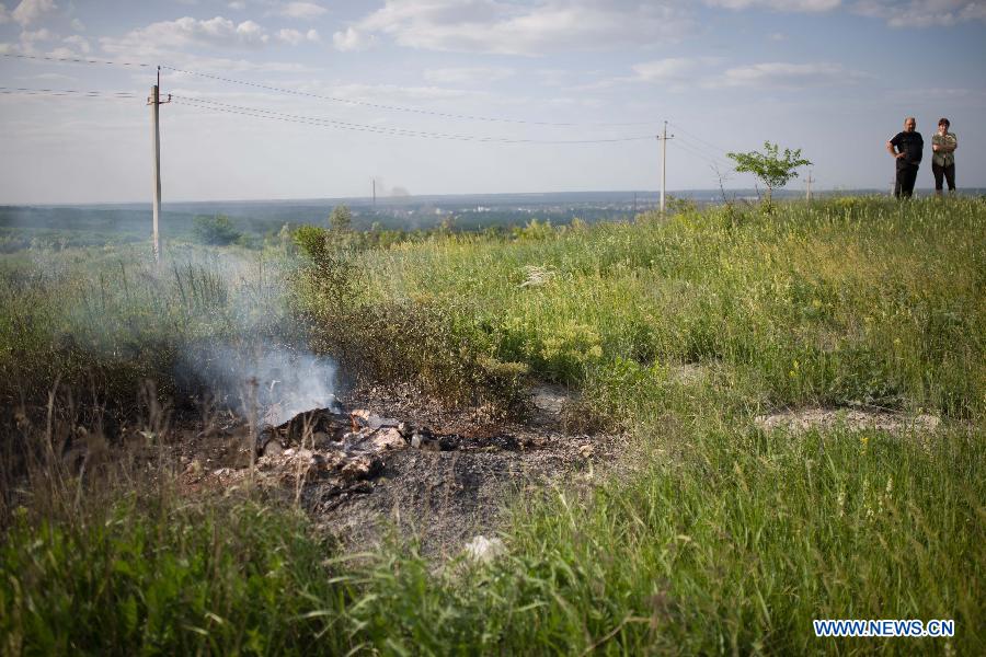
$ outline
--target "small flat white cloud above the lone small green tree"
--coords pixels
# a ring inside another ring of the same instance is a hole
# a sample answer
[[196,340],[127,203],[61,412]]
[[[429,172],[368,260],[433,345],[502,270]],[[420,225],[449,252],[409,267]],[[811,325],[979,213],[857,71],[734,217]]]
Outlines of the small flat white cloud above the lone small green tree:
[[855,83],[864,73],[847,70],[839,64],[789,64],[770,61],[726,69],[706,80],[709,88],[754,88],[793,90]]

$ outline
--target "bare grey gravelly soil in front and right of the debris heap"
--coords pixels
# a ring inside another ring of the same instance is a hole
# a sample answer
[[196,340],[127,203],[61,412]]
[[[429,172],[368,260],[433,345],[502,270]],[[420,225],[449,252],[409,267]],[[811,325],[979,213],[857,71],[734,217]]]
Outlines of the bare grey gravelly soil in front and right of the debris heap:
[[398,530],[425,554],[455,554],[473,535],[495,532],[515,496],[598,480],[619,437],[564,431],[567,400],[562,389],[539,388],[529,413],[504,420],[482,408],[445,408],[408,388],[356,390],[341,399],[346,410],[423,427],[442,437],[443,449],[388,452],[376,479],[346,491],[312,483],[303,504],[351,549]]

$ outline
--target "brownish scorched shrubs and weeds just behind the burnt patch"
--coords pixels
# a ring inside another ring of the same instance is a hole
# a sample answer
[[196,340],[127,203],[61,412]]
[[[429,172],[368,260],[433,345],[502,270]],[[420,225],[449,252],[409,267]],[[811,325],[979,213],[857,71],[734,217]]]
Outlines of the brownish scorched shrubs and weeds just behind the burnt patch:
[[357,378],[414,382],[451,403],[501,411],[520,403],[528,367],[465,341],[458,324],[468,309],[368,293],[360,252],[334,239],[318,228],[296,233],[307,261],[293,300],[316,327],[319,351],[332,354]]

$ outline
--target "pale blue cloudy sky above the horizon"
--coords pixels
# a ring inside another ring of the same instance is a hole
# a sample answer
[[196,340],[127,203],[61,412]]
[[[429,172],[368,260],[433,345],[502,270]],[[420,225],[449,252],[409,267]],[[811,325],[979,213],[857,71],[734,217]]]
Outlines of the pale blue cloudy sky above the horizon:
[[885,189],[909,115],[986,187],[986,0],[0,2],[0,204],[150,200],[159,66],[165,205],[656,191],[665,122],[672,193]]

